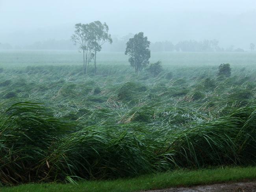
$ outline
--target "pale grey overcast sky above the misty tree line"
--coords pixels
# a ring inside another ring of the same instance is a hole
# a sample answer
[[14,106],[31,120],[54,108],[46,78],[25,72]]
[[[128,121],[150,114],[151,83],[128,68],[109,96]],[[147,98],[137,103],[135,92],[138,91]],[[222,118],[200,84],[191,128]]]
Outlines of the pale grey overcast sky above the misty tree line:
[[95,20],[114,36],[143,31],[152,42],[256,43],[256,0],[0,0],[0,42],[69,39],[74,24]]

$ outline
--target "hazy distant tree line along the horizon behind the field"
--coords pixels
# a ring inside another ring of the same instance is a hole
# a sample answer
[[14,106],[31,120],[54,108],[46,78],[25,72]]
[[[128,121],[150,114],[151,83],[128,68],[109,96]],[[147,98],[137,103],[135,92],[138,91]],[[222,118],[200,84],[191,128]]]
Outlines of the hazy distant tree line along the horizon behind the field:
[[[111,37],[113,39],[112,44],[102,45],[102,51],[108,52],[124,52],[126,49],[126,42],[130,38],[134,37],[134,34],[129,33],[128,35],[117,38]],[[76,50],[77,46],[68,39],[68,40],[55,40],[48,39],[45,41],[37,41],[33,44],[26,45],[23,47],[11,46],[7,43],[0,44],[0,50],[11,50],[11,49],[31,49],[31,50]],[[204,41],[195,41],[195,40],[186,40],[180,41],[177,44],[173,44],[171,41],[157,41],[151,42],[150,50],[152,52],[244,52],[242,48],[236,48],[234,45],[231,45],[227,48],[219,46],[219,41],[213,40],[204,40]],[[255,50],[254,43],[250,43],[248,46],[249,50],[253,52]]]

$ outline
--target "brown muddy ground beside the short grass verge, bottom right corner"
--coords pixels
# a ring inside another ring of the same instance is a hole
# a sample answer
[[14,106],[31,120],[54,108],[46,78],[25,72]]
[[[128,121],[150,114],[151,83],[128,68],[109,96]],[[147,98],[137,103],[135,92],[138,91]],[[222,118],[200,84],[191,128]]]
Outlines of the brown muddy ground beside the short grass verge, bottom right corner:
[[256,181],[179,187],[147,192],[256,192]]

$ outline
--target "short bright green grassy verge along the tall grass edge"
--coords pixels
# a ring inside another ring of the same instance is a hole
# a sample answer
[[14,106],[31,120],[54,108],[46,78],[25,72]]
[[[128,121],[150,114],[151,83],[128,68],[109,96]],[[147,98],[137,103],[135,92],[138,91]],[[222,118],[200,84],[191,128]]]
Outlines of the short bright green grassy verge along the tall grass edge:
[[256,167],[176,170],[132,179],[86,181],[75,184],[28,184],[0,188],[1,192],[135,192],[141,190],[256,179]]

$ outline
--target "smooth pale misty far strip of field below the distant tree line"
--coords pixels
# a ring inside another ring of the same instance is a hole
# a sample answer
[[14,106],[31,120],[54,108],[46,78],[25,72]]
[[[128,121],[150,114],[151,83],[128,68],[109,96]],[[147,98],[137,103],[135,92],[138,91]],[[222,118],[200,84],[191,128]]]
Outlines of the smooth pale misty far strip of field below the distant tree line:
[[[256,53],[251,52],[151,52],[151,62],[162,61],[167,66],[254,65]],[[100,52],[100,65],[127,65],[128,57],[122,52]],[[77,50],[0,51],[0,64],[13,65],[82,65],[82,54]]]

